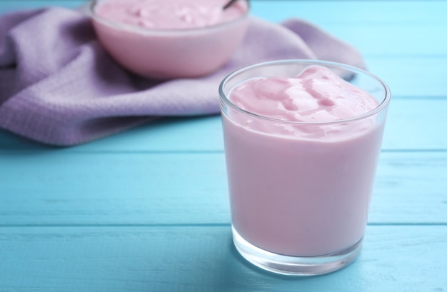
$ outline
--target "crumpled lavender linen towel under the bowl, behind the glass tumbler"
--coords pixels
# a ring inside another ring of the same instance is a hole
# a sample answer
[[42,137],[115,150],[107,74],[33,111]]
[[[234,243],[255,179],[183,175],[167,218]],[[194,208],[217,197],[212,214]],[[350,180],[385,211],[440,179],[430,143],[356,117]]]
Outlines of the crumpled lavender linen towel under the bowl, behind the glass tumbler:
[[69,146],[155,116],[218,114],[218,87],[226,74],[275,59],[324,59],[364,68],[358,51],[312,24],[252,17],[246,39],[224,68],[198,79],[154,81],[116,64],[78,11],[8,14],[0,16],[0,127]]

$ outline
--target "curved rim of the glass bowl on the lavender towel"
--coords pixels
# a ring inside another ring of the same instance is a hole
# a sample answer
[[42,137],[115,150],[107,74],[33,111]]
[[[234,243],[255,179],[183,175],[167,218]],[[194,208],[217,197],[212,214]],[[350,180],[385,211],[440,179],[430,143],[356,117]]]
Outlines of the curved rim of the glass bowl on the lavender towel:
[[204,31],[210,31],[213,29],[221,29],[224,28],[226,26],[230,26],[231,24],[236,24],[239,21],[243,21],[244,19],[248,18],[248,15],[250,14],[250,10],[251,10],[251,6],[250,6],[250,2],[246,1],[247,3],[247,7],[246,7],[246,11],[244,11],[243,14],[241,14],[241,16],[238,16],[236,19],[233,19],[231,21],[225,21],[225,22],[221,22],[219,24],[213,24],[210,26],[200,26],[200,27],[193,27],[193,28],[186,28],[186,29],[149,29],[149,28],[144,28],[144,27],[140,27],[140,26],[134,26],[131,24],[121,24],[119,22],[115,22],[115,21],[111,21],[109,19],[104,18],[103,16],[100,16],[97,12],[96,12],[96,6],[100,4],[100,2],[103,1],[107,1],[107,0],[92,0],[90,5],[89,5],[89,14],[90,16],[96,20],[101,22],[102,24],[105,24],[106,26],[110,26],[114,29],[121,29],[124,31],[132,31],[132,32],[136,32],[136,33],[140,33],[140,34],[156,34],[156,35],[175,35],[175,34],[200,34],[201,32]]

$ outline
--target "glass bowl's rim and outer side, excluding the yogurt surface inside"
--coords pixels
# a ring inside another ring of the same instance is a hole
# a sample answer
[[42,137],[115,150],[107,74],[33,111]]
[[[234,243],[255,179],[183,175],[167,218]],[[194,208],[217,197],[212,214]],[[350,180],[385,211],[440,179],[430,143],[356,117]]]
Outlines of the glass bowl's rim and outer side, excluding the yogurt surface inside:
[[245,9],[238,18],[192,29],[146,29],[110,21],[96,12],[104,1],[90,5],[99,41],[119,64],[147,78],[194,78],[216,71],[230,59],[248,26],[248,1],[238,1]]

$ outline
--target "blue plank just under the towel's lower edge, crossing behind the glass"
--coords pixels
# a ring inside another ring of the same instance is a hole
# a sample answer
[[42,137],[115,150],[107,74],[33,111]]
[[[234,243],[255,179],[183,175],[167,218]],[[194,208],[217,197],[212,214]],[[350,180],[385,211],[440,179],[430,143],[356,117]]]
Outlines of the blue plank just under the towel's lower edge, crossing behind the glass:
[[[447,68],[447,67],[446,67]],[[393,91],[393,89],[391,89]],[[217,97],[216,97],[217,98]],[[447,99],[393,96],[388,112],[383,150],[447,149]],[[428,114],[430,113],[430,114]],[[54,150],[0,130],[0,149]],[[73,148],[70,152],[101,151],[224,151],[221,117],[162,119],[121,134]]]

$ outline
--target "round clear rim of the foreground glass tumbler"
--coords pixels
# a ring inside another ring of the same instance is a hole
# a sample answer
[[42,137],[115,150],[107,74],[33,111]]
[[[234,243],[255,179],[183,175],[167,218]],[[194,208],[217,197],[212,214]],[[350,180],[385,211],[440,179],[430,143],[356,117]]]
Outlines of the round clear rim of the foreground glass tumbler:
[[[236,106],[236,104],[233,104],[232,101],[230,101],[227,97],[227,94],[224,92],[224,87],[226,86],[226,84],[228,83],[228,81],[230,79],[232,79],[234,76],[237,76],[238,74],[241,74],[243,72],[249,71],[251,69],[256,69],[259,67],[263,67],[263,66],[272,66],[272,65],[283,65],[283,64],[308,64],[309,66],[311,65],[321,65],[321,66],[331,66],[331,67],[335,67],[338,69],[347,69],[348,71],[353,71],[356,74],[361,73],[361,74],[366,74],[367,76],[371,77],[372,79],[376,80],[378,82],[378,84],[381,84],[381,86],[383,86],[383,89],[385,91],[384,94],[384,98],[383,101],[381,101],[378,106],[376,106],[376,108],[371,109],[371,111],[368,111],[364,114],[358,115],[358,116],[353,116],[351,118],[347,118],[347,119],[338,119],[335,121],[289,121],[289,120],[281,120],[281,119],[275,119],[275,118],[271,118],[269,116],[263,116],[261,114],[255,114],[251,111],[246,111],[244,109],[241,109],[239,106]],[[318,126],[318,125],[331,125],[331,124],[343,124],[343,123],[347,123],[347,122],[352,122],[352,121],[359,121],[362,119],[366,119],[370,116],[374,116],[376,114],[379,114],[381,111],[383,111],[384,109],[386,109],[386,107],[388,106],[390,100],[391,100],[391,91],[388,88],[388,85],[386,85],[385,82],[383,82],[380,78],[378,78],[376,75],[371,74],[370,72],[357,68],[355,66],[351,66],[351,65],[347,65],[347,64],[341,64],[338,62],[333,62],[333,61],[321,61],[321,60],[312,60],[312,59],[288,59],[288,60],[276,60],[276,61],[266,61],[266,62],[261,62],[258,64],[253,64],[250,66],[245,66],[243,68],[237,69],[236,71],[231,72],[230,74],[228,74],[222,81],[221,84],[219,85],[219,95],[220,95],[220,101],[221,101],[221,105],[222,104],[226,104],[227,106],[230,106],[232,109],[242,113],[242,114],[246,114],[248,116],[253,116],[256,119],[262,119],[262,120],[267,120],[267,121],[272,121],[272,122],[277,122],[277,123],[282,123],[282,124],[295,124],[295,125],[314,125],[314,126]]]

